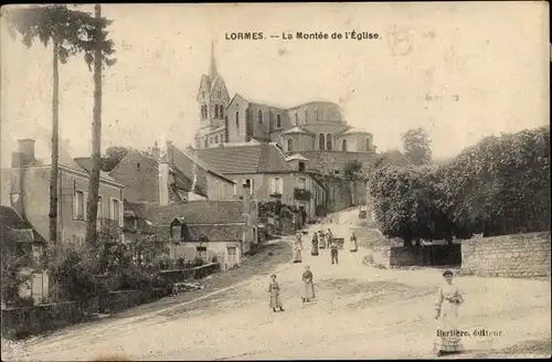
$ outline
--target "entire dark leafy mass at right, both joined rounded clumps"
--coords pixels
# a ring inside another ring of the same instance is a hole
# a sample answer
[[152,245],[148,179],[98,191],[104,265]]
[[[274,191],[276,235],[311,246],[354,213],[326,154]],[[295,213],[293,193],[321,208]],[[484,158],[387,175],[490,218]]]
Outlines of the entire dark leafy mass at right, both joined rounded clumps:
[[546,231],[550,127],[487,137],[440,167],[380,167],[368,185],[380,230],[405,245]]

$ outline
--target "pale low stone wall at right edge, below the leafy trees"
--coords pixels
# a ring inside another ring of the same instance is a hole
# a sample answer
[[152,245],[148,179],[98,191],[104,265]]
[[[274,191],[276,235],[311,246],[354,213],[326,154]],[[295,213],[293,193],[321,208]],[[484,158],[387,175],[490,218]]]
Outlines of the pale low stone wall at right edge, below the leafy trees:
[[463,241],[460,273],[485,277],[550,277],[550,233]]

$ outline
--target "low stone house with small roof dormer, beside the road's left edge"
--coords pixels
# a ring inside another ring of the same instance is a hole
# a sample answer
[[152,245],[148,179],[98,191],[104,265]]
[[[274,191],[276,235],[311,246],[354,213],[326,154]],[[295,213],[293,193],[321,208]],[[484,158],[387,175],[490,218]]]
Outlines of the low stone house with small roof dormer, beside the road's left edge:
[[[247,188],[245,184],[244,188]],[[147,205],[145,219],[170,239],[170,258],[221,263],[223,270],[238,264],[257,244],[258,207],[248,190],[238,201],[197,200],[166,206]]]

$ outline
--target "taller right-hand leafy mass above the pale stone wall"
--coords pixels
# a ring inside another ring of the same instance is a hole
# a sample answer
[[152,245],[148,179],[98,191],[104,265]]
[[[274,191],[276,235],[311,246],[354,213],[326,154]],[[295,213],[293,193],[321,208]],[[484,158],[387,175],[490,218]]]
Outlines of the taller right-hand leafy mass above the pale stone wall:
[[487,137],[442,172],[444,206],[476,233],[550,228],[550,127]]

